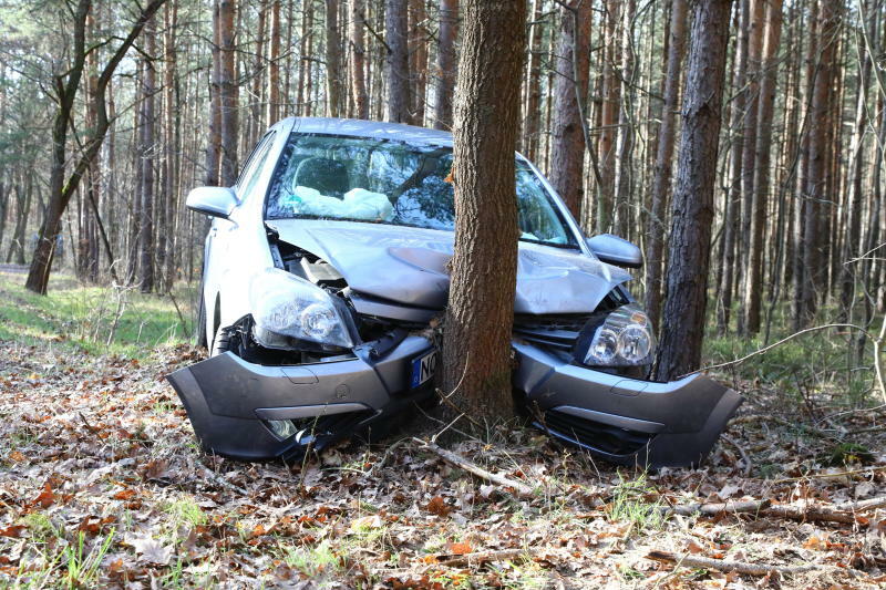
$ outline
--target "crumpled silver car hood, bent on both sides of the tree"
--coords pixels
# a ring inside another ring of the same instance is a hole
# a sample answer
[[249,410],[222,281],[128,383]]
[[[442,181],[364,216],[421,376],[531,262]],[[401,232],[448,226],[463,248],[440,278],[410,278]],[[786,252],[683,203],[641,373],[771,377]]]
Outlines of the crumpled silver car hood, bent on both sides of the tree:
[[[332,265],[359,293],[443,309],[452,231],[404,226],[275,219],[280,239]],[[521,242],[515,313],[586,313],[631,276],[578,251]]]

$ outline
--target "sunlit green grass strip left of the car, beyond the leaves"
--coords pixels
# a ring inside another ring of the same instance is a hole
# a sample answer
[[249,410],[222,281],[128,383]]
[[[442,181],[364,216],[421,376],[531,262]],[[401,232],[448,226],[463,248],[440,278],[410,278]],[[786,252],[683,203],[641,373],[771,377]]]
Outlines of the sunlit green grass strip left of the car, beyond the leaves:
[[24,289],[24,279],[22,273],[0,272],[0,340],[135,359],[158,345],[190,340],[196,283],[178,284],[169,297],[86,286],[54,275],[49,294],[39,296]]

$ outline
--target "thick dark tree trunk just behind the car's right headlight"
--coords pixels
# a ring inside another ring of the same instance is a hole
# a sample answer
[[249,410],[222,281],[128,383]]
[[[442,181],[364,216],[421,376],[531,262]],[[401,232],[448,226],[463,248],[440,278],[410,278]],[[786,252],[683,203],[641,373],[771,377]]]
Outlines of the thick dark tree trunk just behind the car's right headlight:
[[701,359],[731,4],[732,0],[694,4],[657,366],[663,379],[697,369]]

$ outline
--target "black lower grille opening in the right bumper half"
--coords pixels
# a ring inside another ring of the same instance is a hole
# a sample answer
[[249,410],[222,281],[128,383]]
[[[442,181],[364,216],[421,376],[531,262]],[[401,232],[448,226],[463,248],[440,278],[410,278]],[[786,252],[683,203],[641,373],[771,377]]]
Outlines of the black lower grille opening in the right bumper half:
[[548,410],[544,413],[544,423],[536,422],[535,426],[549,431],[558,438],[600,451],[610,455],[630,455],[648,445],[655,436],[649,433],[629,431],[602,424],[593,420],[580,418]]

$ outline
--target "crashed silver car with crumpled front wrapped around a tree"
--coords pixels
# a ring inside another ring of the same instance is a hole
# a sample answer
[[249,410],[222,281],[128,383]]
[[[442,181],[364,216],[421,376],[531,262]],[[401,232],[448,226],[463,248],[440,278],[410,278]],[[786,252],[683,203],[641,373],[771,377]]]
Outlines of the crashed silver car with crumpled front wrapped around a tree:
[[[289,458],[433,393],[454,205],[452,135],[287,118],[236,186],[200,187],[213,218],[200,301],[208,360],[168,376],[203,447]],[[742,402],[700,374],[646,375],[652,328],[625,287],[639,249],[586,239],[521,155],[515,394],[534,424],[629,465],[697,465]]]

